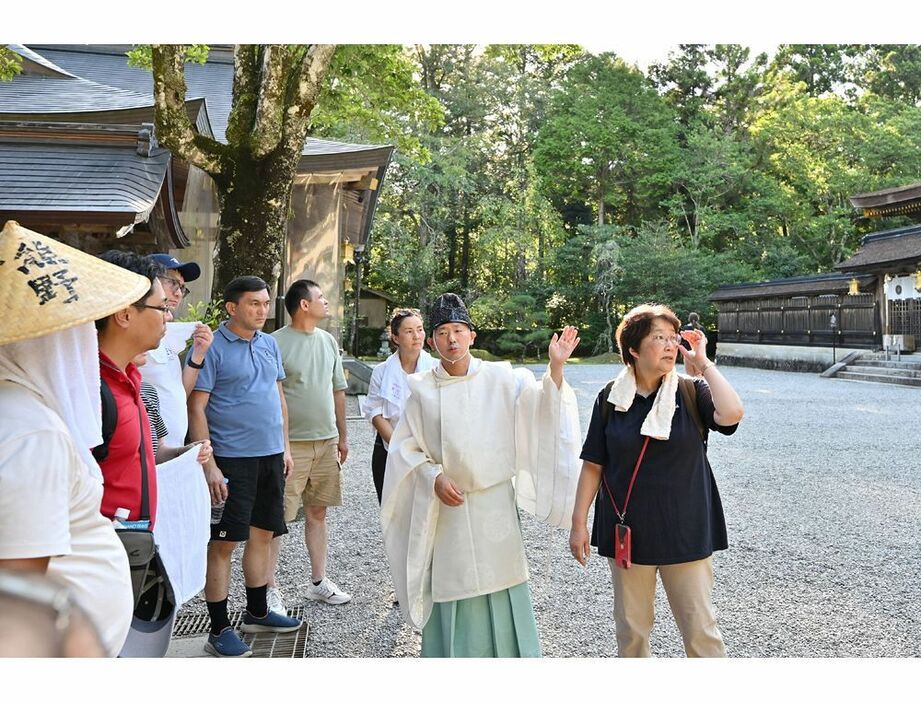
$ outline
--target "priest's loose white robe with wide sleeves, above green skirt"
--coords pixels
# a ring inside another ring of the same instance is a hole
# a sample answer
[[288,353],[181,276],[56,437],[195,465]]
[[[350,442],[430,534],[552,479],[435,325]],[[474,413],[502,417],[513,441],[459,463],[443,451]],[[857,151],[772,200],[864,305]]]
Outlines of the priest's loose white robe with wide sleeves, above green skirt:
[[[381,505],[384,545],[407,621],[423,628],[433,602],[527,581],[517,504],[568,527],[579,478],[578,408],[563,382],[509,363],[471,359],[466,376],[440,364],[408,378],[412,394],[390,440]],[[464,492],[435,496],[444,472]]]

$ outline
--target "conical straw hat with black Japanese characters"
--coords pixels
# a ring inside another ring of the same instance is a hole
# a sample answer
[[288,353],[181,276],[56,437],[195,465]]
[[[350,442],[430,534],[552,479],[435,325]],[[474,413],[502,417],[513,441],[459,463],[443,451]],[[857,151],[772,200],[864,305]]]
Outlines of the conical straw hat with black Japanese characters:
[[106,317],[148,290],[144,276],[16,222],[0,232],[0,344]]

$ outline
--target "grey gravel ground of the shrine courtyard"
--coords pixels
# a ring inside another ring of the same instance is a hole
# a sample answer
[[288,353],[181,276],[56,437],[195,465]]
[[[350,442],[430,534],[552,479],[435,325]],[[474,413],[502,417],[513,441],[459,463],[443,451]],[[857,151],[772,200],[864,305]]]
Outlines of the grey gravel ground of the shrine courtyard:
[[[567,369],[583,433],[598,390],[619,369]],[[723,372],[746,407],[736,434],[711,434],[709,448],[729,531],[729,550],[714,558],[714,602],[729,655],[921,655],[921,393],[811,374]],[[348,413],[358,414],[355,398]],[[348,426],[344,504],[329,513],[329,575],[353,599],[337,607],[304,600],[303,520],[284,537],[280,586],[289,605],[305,602],[308,656],[417,656],[420,637],[393,603],[371,481],[373,433],[359,418]],[[583,570],[569,555],[568,532],[527,514],[522,525],[544,655],[614,655],[604,559],[594,554]],[[241,553],[234,555],[231,609],[245,602]],[[182,610],[204,611],[197,599]],[[652,651],[684,655],[661,585]]]

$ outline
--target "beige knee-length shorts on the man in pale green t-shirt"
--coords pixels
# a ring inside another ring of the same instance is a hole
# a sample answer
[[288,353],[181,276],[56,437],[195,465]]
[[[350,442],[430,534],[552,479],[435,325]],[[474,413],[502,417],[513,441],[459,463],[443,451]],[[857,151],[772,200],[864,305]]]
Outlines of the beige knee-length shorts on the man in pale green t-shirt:
[[339,439],[292,441],[294,468],[285,481],[285,521],[297,516],[297,508],[332,507],[342,504],[339,480]]

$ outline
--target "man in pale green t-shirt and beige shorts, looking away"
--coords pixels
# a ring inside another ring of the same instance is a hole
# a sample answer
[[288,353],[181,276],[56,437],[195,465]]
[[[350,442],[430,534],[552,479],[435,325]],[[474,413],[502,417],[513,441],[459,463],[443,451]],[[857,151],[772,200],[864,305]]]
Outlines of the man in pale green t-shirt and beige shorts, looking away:
[[[326,577],[329,538],[326,508],[342,504],[339,470],[349,453],[345,435],[345,374],[339,345],[317,328],[329,316],[329,303],[312,280],[296,280],[285,293],[291,323],[272,336],[281,350],[288,406],[288,439],[294,469],[285,482],[285,521],[304,506],[304,541],[310,556],[312,585],[307,597],[328,604],[345,604],[352,596]],[[287,614],[275,585],[278,538],[272,542],[269,607]]]

